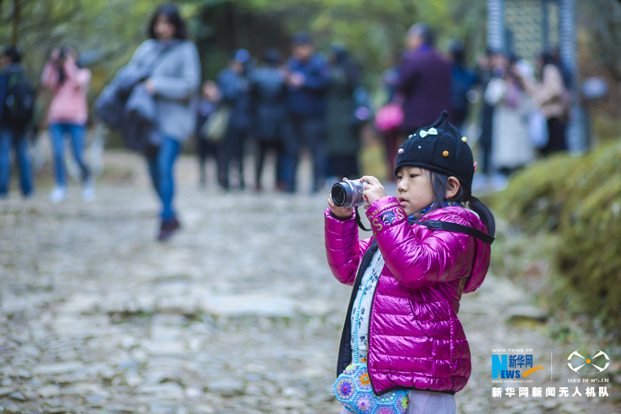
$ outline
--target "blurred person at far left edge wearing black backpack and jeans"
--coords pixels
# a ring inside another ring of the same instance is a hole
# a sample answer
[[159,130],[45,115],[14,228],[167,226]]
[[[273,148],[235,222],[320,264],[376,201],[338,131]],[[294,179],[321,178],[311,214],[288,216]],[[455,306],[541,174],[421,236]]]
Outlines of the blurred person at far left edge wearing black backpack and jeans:
[[7,197],[11,177],[11,147],[19,166],[21,193],[34,193],[26,132],[32,124],[34,89],[21,65],[21,52],[10,46],[0,53],[0,198]]

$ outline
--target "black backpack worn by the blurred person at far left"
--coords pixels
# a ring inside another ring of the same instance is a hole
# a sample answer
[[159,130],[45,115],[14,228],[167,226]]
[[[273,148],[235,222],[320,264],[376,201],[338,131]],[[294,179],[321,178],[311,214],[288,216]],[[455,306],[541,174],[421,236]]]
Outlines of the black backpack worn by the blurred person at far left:
[[10,126],[25,126],[32,120],[34,112],[34,88],[23,72],[8,77],[4,113]]

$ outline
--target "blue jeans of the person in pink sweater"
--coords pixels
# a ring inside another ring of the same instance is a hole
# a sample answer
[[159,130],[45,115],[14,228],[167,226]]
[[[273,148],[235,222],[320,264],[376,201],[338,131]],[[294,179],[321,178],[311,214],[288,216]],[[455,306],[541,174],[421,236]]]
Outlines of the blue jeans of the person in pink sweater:
[[86,126],[77,124],[50,124],[50,137],[52,138],[52,150],[56,166],[56,184],[59,187],[67,186],[65,172],[65,134],[70,135],[73,157],[82,171],[82,181],[90,175],[88,166],[84,161],[84,148],[86,147]]

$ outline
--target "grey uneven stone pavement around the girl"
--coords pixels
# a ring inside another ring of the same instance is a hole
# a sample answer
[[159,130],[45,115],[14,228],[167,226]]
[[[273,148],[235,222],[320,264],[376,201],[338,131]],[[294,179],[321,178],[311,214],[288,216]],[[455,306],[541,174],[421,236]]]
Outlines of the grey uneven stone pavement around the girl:
[[[213,172],[198,190],[184,158],[183,228],[158,244],[144,162],[112,153],[106,168],[91,204],[77,187],[56,206],[45,188],[0,201],[0,411],[338,413],[331,386],[350,288],[325,262],[326,195],[309,195],[307,182],[299,195],[225,194]],[[544,327],[507,322],[545,318],[529,303],[493,275],[464,295],[473,374],[458,412],[615,412],[605,397],[491,397],[492,348],[533,348],[535,365],[573,351]],[[539,386],[566,385],[544,375]]]

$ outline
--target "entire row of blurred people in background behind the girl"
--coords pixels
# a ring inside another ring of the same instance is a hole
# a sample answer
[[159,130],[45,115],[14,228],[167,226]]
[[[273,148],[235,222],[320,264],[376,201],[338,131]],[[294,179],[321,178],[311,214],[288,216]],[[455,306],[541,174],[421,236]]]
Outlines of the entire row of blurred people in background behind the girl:
[[[95,112],[99,121],[121,132],[128,148],[144,154],[162,205],[159,239],[180,227],[173,208],[173,171],[182,145],[192,137],[202,186],[212,157],[222,189],[246,188],[244,159],[250,148],[255,151],[252,187],[257,191],[262,190],[270,152],[276,159],[275,188],[282,192],[297,190],[302,148],[311,153],[313,192],[324,188],[326,180],[331,184],[359,177],[360,131],[375,111],[362,87],[361,70],[344,45],[333,43],[324,55],[310,34],[298,32],[291,37],[288,59],[276,48],[268,48],[260,59],[234,50],[215,79],[201,81],[197,48],[188,41],[177,6],[155,10],[148,37],[101,92]],[[433,124],[443,110],[449,110],[451,123],[464,137],[473,131],[472,124],[480,127],[471,137],[480,150],[482,172],[473,186],[502,188],[509,175],[538,154],[567,148],[571,74],[558,50],[543,52],[536,70],[515,55],[492,50],[469,68],[462,41],[451,41],[446,54],[435,43],[431,26],[415,24],[406,48],[384,72],[387,99],[375,112],[375,129],[384,138],[388,179],[394,179],[397,148],[408,135]],[[0,197],[8,194],[12,150],[21,191],[30,197],[34,175],[26,135],[34,124],[36,91],[18,48],[4,49],[0,66]],[[90,76],[68,47],[52,51],[41,75],[41,86],[52,95],[47,124],[55,160],[56,186],[49,195],[54,203],[67,197],[66,138],[81,173],[82,197],[95,197],[84,157]],[[477,100],[482,100],[480,119],[473,122],[471,106]]]

